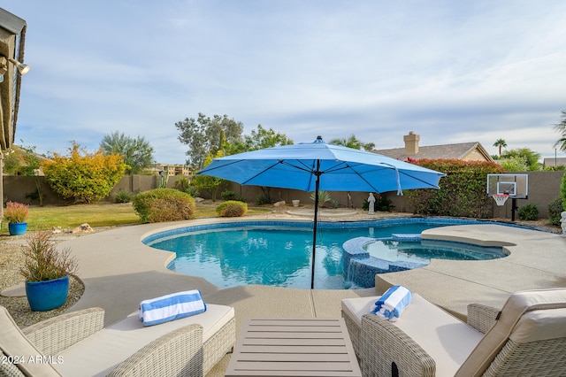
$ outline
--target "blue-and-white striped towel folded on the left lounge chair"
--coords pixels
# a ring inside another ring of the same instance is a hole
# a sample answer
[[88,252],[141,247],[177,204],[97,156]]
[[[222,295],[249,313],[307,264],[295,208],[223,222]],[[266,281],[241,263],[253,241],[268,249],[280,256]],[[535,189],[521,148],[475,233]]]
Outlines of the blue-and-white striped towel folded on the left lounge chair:
[[140,320],[143,326],[152,326],[206,311],[198,289],[172,293],[140,303]]

